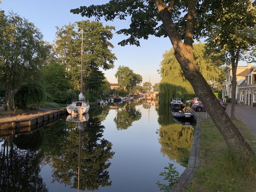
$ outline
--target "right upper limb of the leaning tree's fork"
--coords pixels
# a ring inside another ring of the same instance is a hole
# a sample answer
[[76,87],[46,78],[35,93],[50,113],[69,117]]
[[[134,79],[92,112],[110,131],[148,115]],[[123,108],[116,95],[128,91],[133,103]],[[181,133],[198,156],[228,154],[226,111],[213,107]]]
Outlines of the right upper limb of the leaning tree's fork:
[[184,35],[184,44],[192,47],[195,29],[195,4],[197,0],[188,0],[187,25]]

